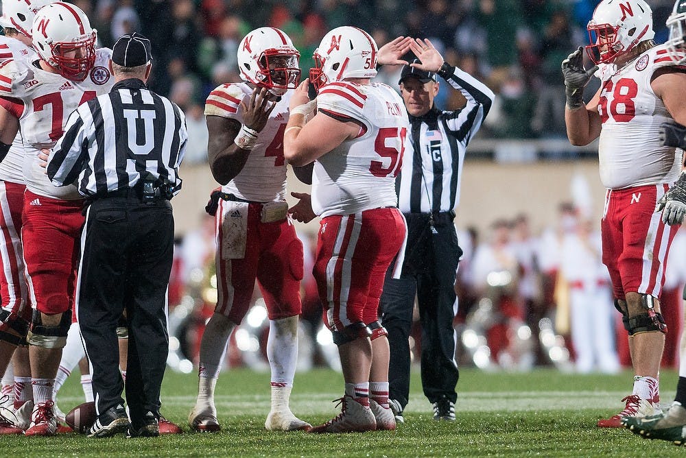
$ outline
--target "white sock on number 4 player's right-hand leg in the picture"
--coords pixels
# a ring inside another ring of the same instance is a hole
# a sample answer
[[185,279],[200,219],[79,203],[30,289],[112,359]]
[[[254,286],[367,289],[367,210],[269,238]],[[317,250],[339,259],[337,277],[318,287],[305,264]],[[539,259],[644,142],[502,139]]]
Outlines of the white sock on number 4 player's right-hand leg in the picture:
[[[269,320],[267,359],[274,383],[293,385],[298,363],[298,316]],[[272,391],[273,392],[273,391]]]

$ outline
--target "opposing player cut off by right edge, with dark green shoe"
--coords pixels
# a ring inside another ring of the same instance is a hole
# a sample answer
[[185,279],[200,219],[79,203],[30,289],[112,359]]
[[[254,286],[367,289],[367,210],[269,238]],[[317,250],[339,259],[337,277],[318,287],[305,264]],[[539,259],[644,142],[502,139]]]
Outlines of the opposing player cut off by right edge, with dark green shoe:
[[[667,26],[670,27],[670,38],[665,45],[674,63],[683,66],[686,64],[686,1],[676,0],[672,14],[667,18]],[[686,127],[683,121],[663,123],[659,136],[663,145],[686,148]],[[660,200],[656,211],[662,213],[662,219],[667,224],[683,223],[686,213],[685,170],[682,170],[677,182]],[[646,439],[663,439],[676,445],[686,445],[686,333],[681,335],[679,379],[670,409],[663,415],[654,415],[651,418],[624,418],[622,424],[632,433]]]

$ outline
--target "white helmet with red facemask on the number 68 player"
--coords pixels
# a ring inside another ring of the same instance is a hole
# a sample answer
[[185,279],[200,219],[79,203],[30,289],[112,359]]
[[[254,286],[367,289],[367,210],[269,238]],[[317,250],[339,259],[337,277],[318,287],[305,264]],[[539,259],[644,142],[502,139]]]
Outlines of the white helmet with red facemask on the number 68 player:
[[652,10],[643,0],[602,0],[586,27],[587,53],[596,64],[608,64],[641,41],[652,40]]

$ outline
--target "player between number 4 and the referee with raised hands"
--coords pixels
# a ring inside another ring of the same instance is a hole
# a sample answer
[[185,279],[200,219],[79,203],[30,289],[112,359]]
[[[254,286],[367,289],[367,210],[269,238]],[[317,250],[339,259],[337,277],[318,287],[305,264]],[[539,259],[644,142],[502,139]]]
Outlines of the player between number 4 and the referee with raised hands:
[[313,274],[345,381],[342,412],[313,433],[396,427],[378,309],[385,272],[405,240],[395,177],[409,121],[400,95],[370,81],[378,53],[362,29],[327,33],[310,71],[316,100],[309,101],[306,80],[292,96],[284,134],[289,163],[314,162],[311,207],[321,220]]

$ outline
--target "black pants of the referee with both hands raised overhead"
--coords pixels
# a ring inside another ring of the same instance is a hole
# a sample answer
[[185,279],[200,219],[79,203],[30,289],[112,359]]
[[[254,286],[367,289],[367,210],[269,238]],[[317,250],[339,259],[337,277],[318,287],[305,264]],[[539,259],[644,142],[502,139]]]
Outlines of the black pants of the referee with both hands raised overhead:
[[401,278],[391,269],[381,294],[383,327],[388,330],[389,398],[407,405],[410,396],[410,328],[414,297],[422,326],[421,377],[429,402],[445,397],[456,402],[460,373],[455,361],[455,273],[462,250],[453,212],[434,213],[433,228],[426,213],[405,213],[407,247]]

